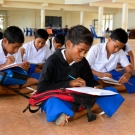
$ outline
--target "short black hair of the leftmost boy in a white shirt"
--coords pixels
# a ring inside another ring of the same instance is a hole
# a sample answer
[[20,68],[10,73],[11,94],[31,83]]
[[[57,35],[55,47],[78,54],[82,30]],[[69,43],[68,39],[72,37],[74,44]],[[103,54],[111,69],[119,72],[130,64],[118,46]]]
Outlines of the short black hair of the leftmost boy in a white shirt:
[[3,33],[3,38],[8,40],[8,43],[24,43],[24,34],[17,26],[9,26]]

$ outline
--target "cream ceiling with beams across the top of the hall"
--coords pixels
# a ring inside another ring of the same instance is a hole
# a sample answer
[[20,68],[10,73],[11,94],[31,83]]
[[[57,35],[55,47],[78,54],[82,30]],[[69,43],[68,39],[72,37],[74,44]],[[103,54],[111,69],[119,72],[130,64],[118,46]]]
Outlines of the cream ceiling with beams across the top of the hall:
[[135,9],[135,0],[0,0],[0,10],[46,9],[65,11],[91,11],[99,6],[122,8],[128,3],[129,9]]

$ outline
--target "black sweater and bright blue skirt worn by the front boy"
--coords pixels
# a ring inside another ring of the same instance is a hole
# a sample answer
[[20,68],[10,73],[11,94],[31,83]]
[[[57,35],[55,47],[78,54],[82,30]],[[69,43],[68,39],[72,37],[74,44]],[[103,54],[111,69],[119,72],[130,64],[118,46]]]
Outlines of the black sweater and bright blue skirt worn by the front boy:
[[[68,64],[64,54],[64,49],[59,49],[47,59],[43,66],[37,92],[42,93],[47,90],[69,88],[69,81],[72,79],[69,78],[68,75],[75,78],[81,77],[86,81],[86,85],[89,87],[99,85],[98,82],[94,80],[92,71],[90,70],[89,64],[85,58],[78,63],[72,62]],[[115,88],[106,89],[116,92]],[[120,94],[117,94],[113,96],[99,97],[97,98],[96,103],[103,109],[103,111],[105,111],[108,117],[111,117],[123,101],[124,98]],[[69,102],[57,98],[49,98],[44,102],[42,109],[46,112],[47,121],[52,122],[56,120],[61,113],[65,113],[72,117],[74,112],[71,110],[71,107],[72,104]]]

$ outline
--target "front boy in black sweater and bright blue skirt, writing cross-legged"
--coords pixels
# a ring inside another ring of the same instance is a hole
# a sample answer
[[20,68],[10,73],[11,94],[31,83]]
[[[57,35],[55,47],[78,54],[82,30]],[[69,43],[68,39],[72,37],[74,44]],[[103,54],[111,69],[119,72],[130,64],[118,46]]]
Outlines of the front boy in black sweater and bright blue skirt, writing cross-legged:
[[[44,64],[37,87],[38,93],[77,86],[101,88],[99,83],[94,80],[89,64],[84,57],[92,42],[93,36],[87,28],[82,25],[72,27],[65,38],[66,49],[56,50]],[[71,79],[69,75],[76,79]],[[114,88],[107,89],[116,91]],[[97,98],[92,111],[96,110],[99,105],[111,117],[123,100],[119,94]],[[42,109],[46,112],[48,122],[56,120],[57,125],[64,125],[65,119],[68,119],[69,116],[69,120],[75,120],[88,113],[86,109],[79,112],[73,111],[72,107],[71,103],[52,97],[44,102]]]

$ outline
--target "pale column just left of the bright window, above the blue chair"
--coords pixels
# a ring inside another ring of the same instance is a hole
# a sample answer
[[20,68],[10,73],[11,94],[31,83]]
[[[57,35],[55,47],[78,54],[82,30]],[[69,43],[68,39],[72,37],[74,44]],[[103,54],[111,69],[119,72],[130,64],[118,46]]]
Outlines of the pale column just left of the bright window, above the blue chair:
[[98,8],[98,36],[102,35],[103,7]]

